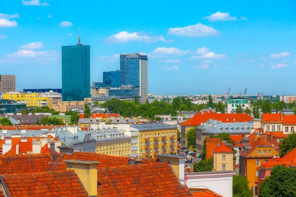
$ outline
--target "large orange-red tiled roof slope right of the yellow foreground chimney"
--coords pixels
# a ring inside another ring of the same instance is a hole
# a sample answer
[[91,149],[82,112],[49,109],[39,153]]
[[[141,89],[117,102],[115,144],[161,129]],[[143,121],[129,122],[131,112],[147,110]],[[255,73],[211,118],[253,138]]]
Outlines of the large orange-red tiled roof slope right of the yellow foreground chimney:
[[98,197],[191,197],[168,163],[98,170]]

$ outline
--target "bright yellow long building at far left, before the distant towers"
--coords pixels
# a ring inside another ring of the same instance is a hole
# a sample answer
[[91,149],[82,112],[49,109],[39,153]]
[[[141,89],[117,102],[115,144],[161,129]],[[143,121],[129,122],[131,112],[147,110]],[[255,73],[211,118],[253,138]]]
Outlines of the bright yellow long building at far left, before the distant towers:
[[17,102],[25,103],[27,107],[41,107],[47,106],[46,97],[41,97],[41,93],[5,93],[3,99],[15,100]]

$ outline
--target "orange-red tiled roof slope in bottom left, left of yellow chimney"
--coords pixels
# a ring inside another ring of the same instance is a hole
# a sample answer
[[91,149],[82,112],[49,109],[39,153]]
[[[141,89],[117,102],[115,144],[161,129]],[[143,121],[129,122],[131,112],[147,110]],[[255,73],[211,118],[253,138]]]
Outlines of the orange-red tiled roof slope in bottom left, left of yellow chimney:
[[3,175],[11,197],[87,197],[74,170]]

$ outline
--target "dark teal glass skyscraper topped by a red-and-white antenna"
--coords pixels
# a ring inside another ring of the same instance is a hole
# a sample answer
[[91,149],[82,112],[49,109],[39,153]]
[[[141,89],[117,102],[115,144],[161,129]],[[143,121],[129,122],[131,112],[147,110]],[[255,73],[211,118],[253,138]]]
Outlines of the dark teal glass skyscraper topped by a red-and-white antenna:
[[83,100],[90,97],[90,46],[78,43],[62,46],[63,101]]

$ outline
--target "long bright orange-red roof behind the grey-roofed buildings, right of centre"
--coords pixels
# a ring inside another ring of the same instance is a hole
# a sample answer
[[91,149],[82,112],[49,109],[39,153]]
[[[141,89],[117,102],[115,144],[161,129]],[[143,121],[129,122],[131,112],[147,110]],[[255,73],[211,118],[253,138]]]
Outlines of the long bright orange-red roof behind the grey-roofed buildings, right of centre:
[[192,118],[186,120],[182,125],[184,126],[199,126],[201,123],[207,122],[209,119],[219,120],[223,123],[233,123],[233,122],[249,122],[253,118],[248,114],[216,114],[213,111],[198,112]]

